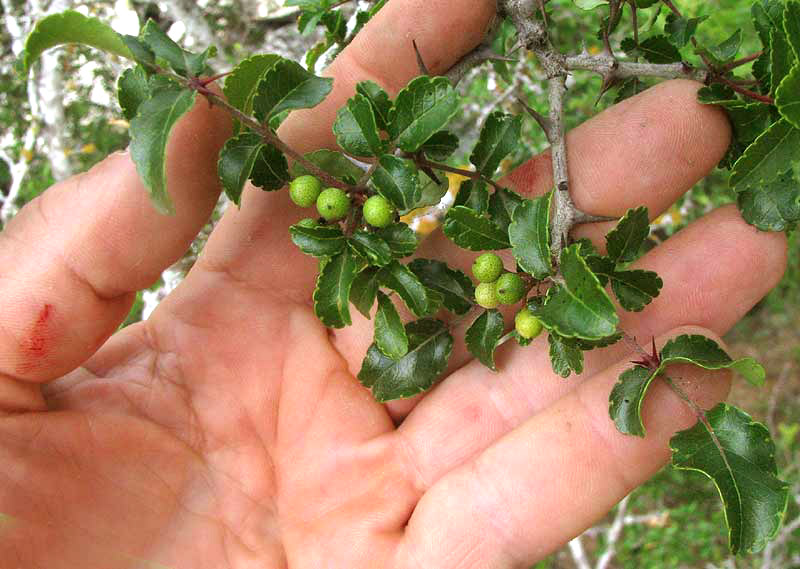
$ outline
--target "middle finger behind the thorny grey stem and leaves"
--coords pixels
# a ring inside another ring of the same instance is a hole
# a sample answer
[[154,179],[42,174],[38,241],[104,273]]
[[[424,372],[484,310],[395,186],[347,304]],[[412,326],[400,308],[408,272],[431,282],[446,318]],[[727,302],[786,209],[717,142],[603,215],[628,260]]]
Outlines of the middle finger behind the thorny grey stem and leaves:
[[[705,177],[727,149],[730,126],[719,110],[697,103],[699,86],[690,81],[659,84],[570,132],[567,147],[576,205],[598,215],[621,215],[646,205],[656,216]],[[528,197],[548,191],[549,154],[533,158],[507,181]],[[477,255],[459,249],[441,232],[431,235],[419,251],[420,257],[444,260],[467,274]],[[504,256],[512,269],[510,253]],[[511,309],[504,311],[508,315]],[[336,342],[356,373],[372,342],[372,326],[358,315],[354,318],[354,326],[337,332]],[[454,335],[463,336],[470,324],[463,322]],[[463,342],[457,342],[449,369],[470,359]]]

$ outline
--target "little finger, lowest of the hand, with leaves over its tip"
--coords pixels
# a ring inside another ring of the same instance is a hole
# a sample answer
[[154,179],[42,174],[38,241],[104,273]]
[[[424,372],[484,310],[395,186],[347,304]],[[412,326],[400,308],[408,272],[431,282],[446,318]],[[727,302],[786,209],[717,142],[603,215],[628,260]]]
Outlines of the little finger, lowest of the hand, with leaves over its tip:
[[[682,333],[710,331],[670,336]],[[619,433],[608,394],[628,367],[620,362],[581,384],[440,480],[417,504],[403,550],[422,567],[522,567],[600,520],[666,463],[675,431],[696,421],[656,381],[643,407],[647,436]],[[706,409],[729,389],[728,372],[673,366],[669,373]]]

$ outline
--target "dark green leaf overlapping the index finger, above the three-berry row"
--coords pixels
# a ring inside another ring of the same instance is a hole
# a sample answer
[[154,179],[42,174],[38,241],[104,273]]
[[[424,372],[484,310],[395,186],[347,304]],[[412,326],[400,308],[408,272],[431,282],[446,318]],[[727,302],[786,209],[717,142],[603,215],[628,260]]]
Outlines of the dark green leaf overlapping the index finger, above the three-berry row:
[[333,79],[317,77],[298,63],[281,59],[259,81],[253,109],[258,120],[267,122],[283,111],[317,106],[332,88]]

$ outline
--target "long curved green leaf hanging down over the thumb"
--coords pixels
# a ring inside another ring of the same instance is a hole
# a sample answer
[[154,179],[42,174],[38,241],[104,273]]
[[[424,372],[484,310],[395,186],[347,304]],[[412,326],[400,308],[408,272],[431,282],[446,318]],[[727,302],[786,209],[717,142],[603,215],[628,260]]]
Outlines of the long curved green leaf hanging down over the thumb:
[[194,105],[196,93],[177,85],[161,86],[139,106],[131,121],[131,158],[153,204],[161,213],[173,213],[167,193],[167,142],[170,132]]

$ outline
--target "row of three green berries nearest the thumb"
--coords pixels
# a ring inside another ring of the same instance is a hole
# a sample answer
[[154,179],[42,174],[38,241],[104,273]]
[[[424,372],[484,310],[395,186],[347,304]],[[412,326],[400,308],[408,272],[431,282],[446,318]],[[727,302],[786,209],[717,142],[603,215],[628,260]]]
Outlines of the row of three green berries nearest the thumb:
[[[300,176],[289,184],[289,197],[300,207],[317,206],[326,221],[339,221],[350,213],[350,197],[339,188],[322,189],[322,182],[314,176]],[[364,202],[364,221],[373,227],[391,225],[395,210],[383,196],[372,196]]]

